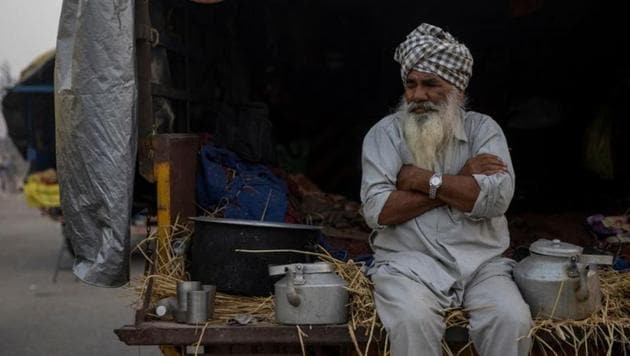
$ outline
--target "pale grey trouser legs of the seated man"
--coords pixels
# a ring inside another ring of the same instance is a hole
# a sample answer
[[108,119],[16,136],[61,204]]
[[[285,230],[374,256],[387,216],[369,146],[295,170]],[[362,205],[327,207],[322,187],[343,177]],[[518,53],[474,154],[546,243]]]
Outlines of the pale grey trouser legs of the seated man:
[[498,259],[480,267],[464,286],[461,301],[437,295],[423,283],[380,266],[372,274],[374,298],[392,355],[442,355],[443,311],[460,302],[468,312],[470,337],[480,355],[527,355],[531,314],[512,280],[508,261]]

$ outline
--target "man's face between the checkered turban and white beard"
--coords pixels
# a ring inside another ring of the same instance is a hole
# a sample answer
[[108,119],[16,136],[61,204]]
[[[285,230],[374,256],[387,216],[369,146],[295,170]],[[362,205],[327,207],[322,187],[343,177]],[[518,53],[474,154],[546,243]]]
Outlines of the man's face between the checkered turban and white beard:
[[[447,96],[453,91],[453,86],[437,75],[411,70],[405,83],[405,100],[409,104],[422,104],[430,102],[436,106],[446,101]],[[414,106],[412,112],[421,114],[431,109],[427,106]]]

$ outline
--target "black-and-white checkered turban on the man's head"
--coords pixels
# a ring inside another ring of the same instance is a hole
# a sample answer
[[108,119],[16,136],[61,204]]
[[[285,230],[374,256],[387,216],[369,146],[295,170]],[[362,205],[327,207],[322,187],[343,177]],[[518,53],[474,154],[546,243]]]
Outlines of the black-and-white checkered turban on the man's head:
[[398,45],[394,60],[400,63],[403,83],[414,69],[435,74],[464,91],[472,76],[473,58],[468,48],[450,33],[427,23]]

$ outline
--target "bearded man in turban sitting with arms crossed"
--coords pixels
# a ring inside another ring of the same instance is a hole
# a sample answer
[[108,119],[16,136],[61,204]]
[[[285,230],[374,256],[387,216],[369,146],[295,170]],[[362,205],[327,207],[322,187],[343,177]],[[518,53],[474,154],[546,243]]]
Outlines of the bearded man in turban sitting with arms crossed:
[[399,355],[441,355],[444,310],[463,306],[481,355],[526,355],[530,310],[512,280],[504,213],[514,171],[499,125],[464,111],[465,45],[422,24],[396,49],[404,96],[363,143],[363,214],[377,312]]

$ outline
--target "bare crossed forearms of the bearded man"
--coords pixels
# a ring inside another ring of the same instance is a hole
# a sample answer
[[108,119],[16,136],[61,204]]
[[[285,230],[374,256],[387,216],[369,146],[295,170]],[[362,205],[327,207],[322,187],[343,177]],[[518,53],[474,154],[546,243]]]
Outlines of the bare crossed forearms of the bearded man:
[[436,199],[430,199],[429,179],[433,172],[405,165],[398,173],[396,190],[392,191],[378,216],[380,225],[395,225],[413,219],[441,205],[470,212],[480,192],[473,174],[493,175],[507,172],[506,164],[492,154],[470,158],[457,175],[443,176]]

